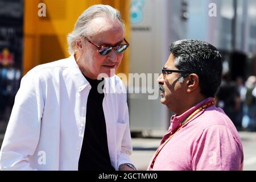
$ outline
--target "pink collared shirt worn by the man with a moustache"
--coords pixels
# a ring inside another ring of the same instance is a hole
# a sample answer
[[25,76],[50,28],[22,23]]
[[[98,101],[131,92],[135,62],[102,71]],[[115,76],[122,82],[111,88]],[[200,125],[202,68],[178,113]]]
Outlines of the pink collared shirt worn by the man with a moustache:
[[[163,144],[209,97],[185,113],[171,117]],[[154,156],[152,157],[150,164]],[[150,168],[150,164],[148,168]],[[169,140],[159,152],[152,170],[242,170],[243,149],[236,127],[224,111],[213,106],[200,111]]]

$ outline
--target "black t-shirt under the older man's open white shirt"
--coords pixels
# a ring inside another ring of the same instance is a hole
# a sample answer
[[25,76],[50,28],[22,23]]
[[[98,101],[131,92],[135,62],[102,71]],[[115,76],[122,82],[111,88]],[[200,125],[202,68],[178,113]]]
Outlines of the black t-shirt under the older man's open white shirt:
[[114,171],[110,163],[106,123],[102,101],[104,93],[98,93],[97,87],[101,81],[85,77],[90,89],[86,106],[86,123],[84,140],[79,158],[79,171]]

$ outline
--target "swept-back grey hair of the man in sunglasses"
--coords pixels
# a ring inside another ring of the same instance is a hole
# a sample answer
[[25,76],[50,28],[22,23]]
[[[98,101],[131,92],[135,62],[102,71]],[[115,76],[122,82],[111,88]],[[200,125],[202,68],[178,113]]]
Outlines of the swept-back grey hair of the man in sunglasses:
[[114,9],[109,5],[93,5],[86,9],[77,19],[75,23],[74,30],[68,34],[68,52],[70,55],[75,53],[76,41],[81,39],[82,36],[90,36],[92,30],[90,29],[89,23],[92,19],[104,17],[109,20],[116,21],[118,20],[123,29],[125,29],[125,24],[121,19],[121,14],[117,9]]

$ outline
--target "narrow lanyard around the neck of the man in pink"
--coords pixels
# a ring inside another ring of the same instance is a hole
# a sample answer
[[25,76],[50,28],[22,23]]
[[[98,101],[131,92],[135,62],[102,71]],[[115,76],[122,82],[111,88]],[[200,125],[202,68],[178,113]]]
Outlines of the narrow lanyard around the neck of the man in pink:
[[155,163],[155,160],[156,160],[156,157],[158,156],[159,152],[162,150],[162,148],[166,145],[167,142],[169,142],[169,140],[174,137],[174,135],[177,133],[177,131],[179,131],[181,129],[181,127],[183,125],[185,125],[185,123],[187,123],[189,121],[189,119],[193,118],[196,114],[198,114],[201,110],[203,109],[206,109],[207,107],[211,106],[211,105],[214,105],[214,101],[209,101],[207,102],[206,104],[204,104],[203,106],[199,107],[199,109],[197,109],[196,111],[194,111],[191,115],[189,115],[189,117],[187,117],[183,122],[182,122],[182,125],[179,127],[179,129],[177,129],[175,131],[174,134],[170,135],[170,137],[161,145],[158,147],[158,150],[156,150],[155,152],[155,156],[154,156],[154,159],[152,160],[152,163],[150,165],[150,168],[149,170],[152,170],[153,166],[154,166],[154,163]]

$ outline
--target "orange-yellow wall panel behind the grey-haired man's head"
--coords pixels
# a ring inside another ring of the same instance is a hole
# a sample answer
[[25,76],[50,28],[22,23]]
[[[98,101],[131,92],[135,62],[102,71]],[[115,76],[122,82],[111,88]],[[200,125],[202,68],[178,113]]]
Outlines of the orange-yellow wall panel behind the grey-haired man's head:
[[[39,17],[38,5],[46,5],[46,17]],[[129,40],[130,1],[114,0],[24,0],[23,74],[38,64],[68,57],[67,35],[80,14],[89,6],[104,3],[121,11]],[[129,51],[125,53],[118,72],[128,73]]]

